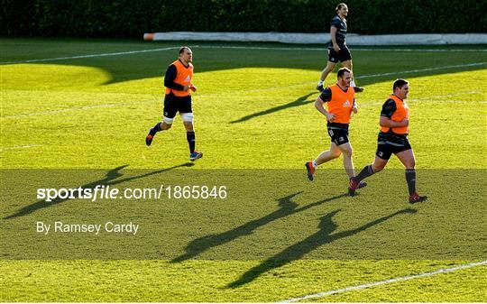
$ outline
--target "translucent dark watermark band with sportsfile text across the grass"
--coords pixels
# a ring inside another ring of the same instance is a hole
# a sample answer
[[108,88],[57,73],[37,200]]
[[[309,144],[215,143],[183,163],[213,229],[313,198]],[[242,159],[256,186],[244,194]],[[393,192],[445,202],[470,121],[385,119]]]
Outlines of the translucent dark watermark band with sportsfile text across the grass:
[[[0,259],[469,260],[485,256],[486,170],[0,170]],[[455,193],[455,197],[452,197]],[[465,208],[468,204],[468,208]]]

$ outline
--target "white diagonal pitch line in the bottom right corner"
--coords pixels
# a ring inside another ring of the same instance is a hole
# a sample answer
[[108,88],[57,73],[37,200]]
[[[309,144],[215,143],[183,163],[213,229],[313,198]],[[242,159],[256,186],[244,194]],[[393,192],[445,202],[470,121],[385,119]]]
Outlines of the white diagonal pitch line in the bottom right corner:
[[280,301],[278,303],[292,303],[292,302],[298,302],[298,301],[303,300],[303,299],[321,298],[321,297],[326,297],[326,296],[329,296],[332,294],[344,293],[344,292],[352,291],[352,290],[364,290],[367,288],[385,285],[385,284],[391,284],[391,283],[395,283],[398,281],[409,281],[409,280],[413,280],[413,279],[426,278],[426,277],[430,277],[430,276],[440,274],[440,273],[455,272],[455,271],[459,271],[462,269],[472,268],[475,266],[481,266],[481,265],[485,265],[485,264],[487,264],[487,260],[482,261],[482,262],[477,262],[477,263],[468,263],[468,264],[458,265],[458,266],[451,267],[451,268],[439,269],[435,272],[423,272],[423,273],[419,273],[419,274],[409,275],[406,277],[398,277],[398,278],[385,280],[385,281],[375,281],[375,282],[367,283],[367,284],[363,284],[363,285],[350,286],[350,287],[346,287],[346,288],[340,289],[340,290],[329,290],[329,291],[324,291],[324,292],[318,292],[318,293],[310,294],[310,295],[304,296],[304,297],[299,297],[299,298],[294,298],[294,299],[286,299],[286,300]]

